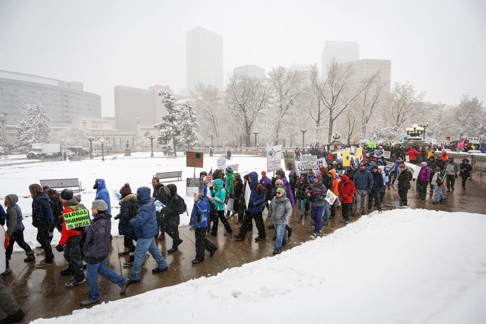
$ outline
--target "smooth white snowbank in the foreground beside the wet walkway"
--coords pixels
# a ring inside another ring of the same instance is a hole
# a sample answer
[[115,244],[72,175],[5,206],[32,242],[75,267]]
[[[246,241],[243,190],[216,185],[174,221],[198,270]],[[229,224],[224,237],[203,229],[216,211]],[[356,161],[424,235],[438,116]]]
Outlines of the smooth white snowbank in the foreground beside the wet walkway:
[[373,213],[276,257],[32,323],[484,323],[485,234],[479,214]]

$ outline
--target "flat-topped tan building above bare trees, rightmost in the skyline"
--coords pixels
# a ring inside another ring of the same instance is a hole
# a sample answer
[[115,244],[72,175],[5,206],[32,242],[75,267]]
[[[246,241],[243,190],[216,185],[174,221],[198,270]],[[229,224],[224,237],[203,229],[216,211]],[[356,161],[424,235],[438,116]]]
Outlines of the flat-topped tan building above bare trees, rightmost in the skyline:
[[378,73],[380,83],[385,84],[385,90],[390,91],[391,60],[362,59],[342,63],[342,65],[345,68],[351,68],[353,71],[348,82],[351,89],[360,88],[367,78]]

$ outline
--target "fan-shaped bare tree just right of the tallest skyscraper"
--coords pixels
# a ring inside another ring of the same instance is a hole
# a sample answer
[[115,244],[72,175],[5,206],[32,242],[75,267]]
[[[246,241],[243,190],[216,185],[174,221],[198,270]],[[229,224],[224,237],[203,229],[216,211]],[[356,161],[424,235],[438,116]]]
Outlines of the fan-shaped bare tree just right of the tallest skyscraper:
[[255,78],[229,75],[225,103],[233,127],[241,130],[245,143],[250,143],[255,121],[267,108],[269,91]]

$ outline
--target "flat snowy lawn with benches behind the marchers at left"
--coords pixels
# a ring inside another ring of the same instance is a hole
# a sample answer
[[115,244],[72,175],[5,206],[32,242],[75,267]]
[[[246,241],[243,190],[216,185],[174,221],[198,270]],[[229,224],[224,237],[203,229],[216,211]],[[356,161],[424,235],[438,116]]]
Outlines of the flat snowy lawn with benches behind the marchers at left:
[[[161,152],[154,152],[161,155]],[[179,153],[180,154],[180,153]],[[106,187],[111,197],[112,215],[118,215],[119,205],[118,201],[113,195],[113,191],[118,191],[125,183],[130,183],[132,192],[136,192],[137,188],[147,186],[152,188],[152,177],[157,172],[168,171],[182,171],[182,181],[177,179],[162,180],[165,185],[174,183],[178,188],[178,193],[185,199],[187,209],[190,215],[193,206],[193,198],[186,197],[186,180],[185,178],[193,177],[194,168],[186,167],[185,156],[179,155],[177,158],[153,157],[150,158],[150,152],[132,153],[131,158],[123,156],[123,154],[116,155],[116,160],[111,160],[110,155],[101,161],[101,156],[90,159],[83,159],[83,161],[59,161],[50,160],[43,163],[22,164],[15,166],[2,166],[0,168],[0,179],[2,186],[0,187],[0,202],[4,205],[4,198],[6,195],[15,193],[19,196],[18,205],[22,209],[24,216],[24,238],[31,246],[37,246],[37,229],[32,226],[32,198],[30,198],[29,185],[32,183],[39,183],[39,179],[65,179],[78,178],[83,186],[81,192],[81,202],[87,207],[91,207],[91,203],[96,196],[96,189],[93,189],[95,179],[105,179]],[[216,159],[219,156],[204,157],[204,169],[196,168],[196,177],[199,172],[205,170],[209,172],[213,167],[213,172],[216,171]],[[242,175],[251,172],[260,172],[266,168],[266,158],[252,157],[251,155],[233,155],[231,160],[227,161],[228,165],[238,164],[238,172]],[[57,189],[59,192],[62,189]],[[189,223],[187,214],[181,215],[181,226]],[[112,218],[111,232],[113,235],[118,235],[118,220]],[[61,237],[61,234],[55,230],[53,244],[56,244]],[[14,251],[22,251],[18,246],[14,246]]]

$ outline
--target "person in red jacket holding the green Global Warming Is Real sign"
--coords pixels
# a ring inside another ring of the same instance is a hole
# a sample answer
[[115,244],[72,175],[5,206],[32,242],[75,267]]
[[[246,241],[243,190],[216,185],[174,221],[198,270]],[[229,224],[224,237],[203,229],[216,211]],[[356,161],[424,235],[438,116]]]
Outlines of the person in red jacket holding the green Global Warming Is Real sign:
[[61,270],[61,275],[74,274],[73,277],[69,278],[69,281],[66,282],[65,286],[77,287],[86,282],[80,250],[81,237],[83,233],[76,229],[67,229],[64,214],[86,209],[86,207],[83,204],[78,203],[78,201],[73,197],[71,189],[64,189],[61,191],[61,201],[62,205],[64,206],[64,211],[62,212],[63,224],[61,239],[59,240],[56,250],[61,252],[64,248],[64,258],[69,262],[68,267]]

